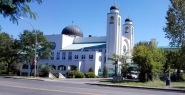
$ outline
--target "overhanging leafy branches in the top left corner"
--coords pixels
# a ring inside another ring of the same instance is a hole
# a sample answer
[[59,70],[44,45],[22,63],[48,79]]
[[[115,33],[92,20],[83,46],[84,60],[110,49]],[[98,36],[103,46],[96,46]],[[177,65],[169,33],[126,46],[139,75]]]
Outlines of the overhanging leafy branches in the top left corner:
[[0,14],[10,21],[18,24],[19,17],[30,17],[36,19],[38,15],[31,11],[29,4],[31,2],[41,4],[43,0],[0,0]]

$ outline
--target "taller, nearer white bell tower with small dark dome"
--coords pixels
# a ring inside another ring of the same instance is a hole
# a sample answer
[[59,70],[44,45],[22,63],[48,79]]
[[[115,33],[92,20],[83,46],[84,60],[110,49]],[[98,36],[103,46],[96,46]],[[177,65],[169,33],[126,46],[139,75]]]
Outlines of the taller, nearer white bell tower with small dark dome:
[[107,13],[107,40],[106,40],[106,60],[109,61],[109,54],[121,55],[121,15],[119,8],[114,5]]

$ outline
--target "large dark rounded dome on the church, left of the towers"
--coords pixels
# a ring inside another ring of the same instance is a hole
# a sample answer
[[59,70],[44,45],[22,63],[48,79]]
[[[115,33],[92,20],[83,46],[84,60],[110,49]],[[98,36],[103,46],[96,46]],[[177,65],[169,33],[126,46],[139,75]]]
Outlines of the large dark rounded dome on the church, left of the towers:
[[83,37],[82,30],[75,25],[66,26],[62,30],[62,34]]

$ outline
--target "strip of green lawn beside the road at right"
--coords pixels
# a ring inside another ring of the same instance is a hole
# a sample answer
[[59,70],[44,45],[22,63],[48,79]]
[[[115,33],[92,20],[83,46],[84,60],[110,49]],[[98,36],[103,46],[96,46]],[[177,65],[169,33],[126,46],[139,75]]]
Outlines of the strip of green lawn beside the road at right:
[[[157,81],[157,82],[99,82],[101,84],[117,84],[117,85],[131,85],[131,86],[148,86],[148,87],[166,87],[166,82]],[[185,88],[185,82],[171,82],[170,86],[180,86]]]

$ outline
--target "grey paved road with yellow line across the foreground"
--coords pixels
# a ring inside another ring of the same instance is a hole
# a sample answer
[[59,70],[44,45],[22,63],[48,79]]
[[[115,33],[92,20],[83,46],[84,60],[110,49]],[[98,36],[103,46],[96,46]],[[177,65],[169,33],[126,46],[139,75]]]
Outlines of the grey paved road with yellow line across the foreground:
[[[38,81],[0,77],[0,95],[184,95],[178,92],[101,87],[77,80]],[[76,83],[75,83],[76,82]]]

